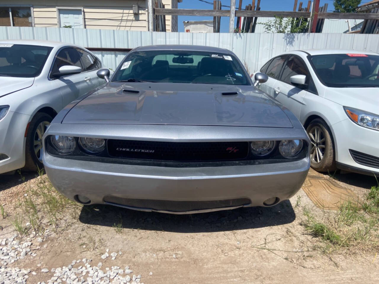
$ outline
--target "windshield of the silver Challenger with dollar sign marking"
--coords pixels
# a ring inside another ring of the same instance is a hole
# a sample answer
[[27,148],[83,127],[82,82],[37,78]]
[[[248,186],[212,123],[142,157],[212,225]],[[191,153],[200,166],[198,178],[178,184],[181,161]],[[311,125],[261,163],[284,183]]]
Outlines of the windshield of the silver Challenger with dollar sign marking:
[[250,85],[243,68],[226,53],[136,51],[124,59],[112,81]]

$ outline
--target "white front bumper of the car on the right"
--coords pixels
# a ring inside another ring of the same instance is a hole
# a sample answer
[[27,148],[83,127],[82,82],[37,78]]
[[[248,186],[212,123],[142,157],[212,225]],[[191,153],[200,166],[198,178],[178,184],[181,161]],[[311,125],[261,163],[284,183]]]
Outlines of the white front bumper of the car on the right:
[[354,161],[349,150],[379,158],[379,131],[357,125],[345,119],[332,126],[336,141],[337,167],[341,170],[379,176],[379,168]]

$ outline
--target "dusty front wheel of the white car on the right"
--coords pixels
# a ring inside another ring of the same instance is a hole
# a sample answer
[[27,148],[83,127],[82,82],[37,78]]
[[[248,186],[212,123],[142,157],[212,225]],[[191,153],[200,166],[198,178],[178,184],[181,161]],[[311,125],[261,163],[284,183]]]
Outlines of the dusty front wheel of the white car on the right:
[[332,133],[322,119],[315,119],[307,127],[311,141],[310,165],[318,172],[331,172],[335,167],[335,151]]

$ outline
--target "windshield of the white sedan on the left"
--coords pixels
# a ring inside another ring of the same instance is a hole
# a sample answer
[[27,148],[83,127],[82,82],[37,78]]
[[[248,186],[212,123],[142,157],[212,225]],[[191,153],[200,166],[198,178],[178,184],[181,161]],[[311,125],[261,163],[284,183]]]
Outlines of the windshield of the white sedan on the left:
[[39,45],[0,44],[0,76],[38,76],[52,49]]

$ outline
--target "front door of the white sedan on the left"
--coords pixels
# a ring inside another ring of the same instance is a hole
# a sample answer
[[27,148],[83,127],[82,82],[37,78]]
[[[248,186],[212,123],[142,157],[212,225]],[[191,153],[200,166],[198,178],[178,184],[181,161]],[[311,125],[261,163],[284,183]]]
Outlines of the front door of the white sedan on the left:
[[[73,65],[82,69],[81,73],[61,76],[55,78],[52,74],[58,73],[62,66]],[[50,78],[55,80],[61,91],[63,106],[68,105],[70,102],[76,100],[81,95],[85,94],[89,87],[88,83],[84,80],[85,74],[83,73],[83,66],[81,65],[80,55],[74,47],[64,47],[58,51],[53,62]]]

